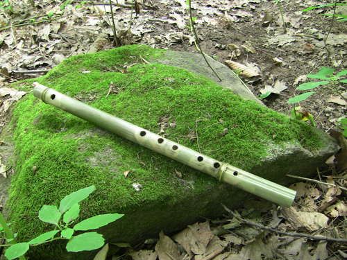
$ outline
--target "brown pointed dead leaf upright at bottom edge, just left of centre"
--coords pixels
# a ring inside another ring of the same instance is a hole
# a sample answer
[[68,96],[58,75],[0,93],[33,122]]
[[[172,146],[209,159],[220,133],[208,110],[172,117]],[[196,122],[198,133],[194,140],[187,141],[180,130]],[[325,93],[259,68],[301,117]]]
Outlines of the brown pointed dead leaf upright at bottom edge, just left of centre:
[[164,232],[160,232],[159,234],[159,241],[155,245],[155,252],[158,254],[159,260],[180,259],[178,245],[169,236],[165,236]]

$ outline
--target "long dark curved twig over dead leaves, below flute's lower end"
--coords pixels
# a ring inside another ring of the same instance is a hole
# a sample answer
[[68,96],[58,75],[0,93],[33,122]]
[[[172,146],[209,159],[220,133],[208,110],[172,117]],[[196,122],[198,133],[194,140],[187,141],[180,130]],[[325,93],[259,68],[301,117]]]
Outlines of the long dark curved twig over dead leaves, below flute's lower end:
[[347,243],[347,239],[334,239],[334,238],[330,238],[330,237],[327,237],[327,236],[312,236],[310,234],[296,233],[296,232],[282,232],[282,231],[274,229],[272,227],[265,227],[264,225],[261,225],[259,223],[254,223],[251,220],[246,220],[246,219],[242,218],[241,216],[239,216],[238,214],[235,214],[234,212],[232,212],[225,205],[223,205],[223,207],[224,207],[224,209],[226,209],[226,211],[228,211],[228,213],[230,215],[234,216],[237,220],[241,221],[242,223],[244,223],[246,225],[251,225],[253,227],[258,227],[260,229],[264,229],[264,230],[267,230],[269,232],[273,232],[273,233],[280,234],[280,235],[285,235],[285,236],[303,237],[303,238],[306,238],[306,239],[312,239],[312,240],[316,240],[316,241],[329,241],[329,242],[336,242],[336,243]]

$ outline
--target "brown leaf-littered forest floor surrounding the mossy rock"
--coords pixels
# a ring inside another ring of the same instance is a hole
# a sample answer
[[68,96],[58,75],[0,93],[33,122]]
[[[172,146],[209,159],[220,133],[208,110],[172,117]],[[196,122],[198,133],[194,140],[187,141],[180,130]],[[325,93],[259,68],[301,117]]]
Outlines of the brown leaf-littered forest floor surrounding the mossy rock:
[[[40,76],[71,55],[117,44],[197,52],[185,0],[137,1],[135,7],[132,2],[113,1],[115,30],[108,1],[31,2],[1,3],[1,87]],[[302,12],[322,1],[275,2],[199,0],[192,1],[192,12],[203,51],[219,62],[239,62],[253,71],[251,78],[240,77],[255,96],[263,94],[266,106],[290,114],[293,105],[288,99],[303,93],[296,87],[314,81],[308,74],[322,67],[335,73],[346,68],[347,27],[346,22],[332,21],[333,6]],[[337,6],[335,13],[346,15],[346,9],[346,5]],[[301,114],[311,114],[316,127],[325,132],[338,130],[339,120],[346,117],[346,85],[334,83],[313,91],[316,93],[300,103]],[[0,98],[4,98],[1,93]],[[0,113],[7,111],[6,107],[0,109]],[[346,158],[344,137],[334,135]],[[250,209],[245,205],[238,210],[240,215],[226,211],[226,218],[196,223],[170,234],[171,238],[160,234],[159,240],[121,248],[114,259],[344,259],[346,241],[319,239],[346,238],[347,166],[343,159],[337,158],[335,163],[333,159],[328,162],[330,169],[318,172],[316,180],[293,185],[298,191],[294,207],[251,205]]]

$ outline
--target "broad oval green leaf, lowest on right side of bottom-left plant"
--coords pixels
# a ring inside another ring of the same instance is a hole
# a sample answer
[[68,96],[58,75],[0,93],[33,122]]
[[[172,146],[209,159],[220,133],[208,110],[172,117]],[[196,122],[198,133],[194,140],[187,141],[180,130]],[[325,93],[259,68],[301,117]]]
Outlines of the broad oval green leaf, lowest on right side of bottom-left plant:
[[78,236],[73,236],[67,242],[67,252],[90,251],[101,248],[105,243],[103,235],[96,232],[87,232]]

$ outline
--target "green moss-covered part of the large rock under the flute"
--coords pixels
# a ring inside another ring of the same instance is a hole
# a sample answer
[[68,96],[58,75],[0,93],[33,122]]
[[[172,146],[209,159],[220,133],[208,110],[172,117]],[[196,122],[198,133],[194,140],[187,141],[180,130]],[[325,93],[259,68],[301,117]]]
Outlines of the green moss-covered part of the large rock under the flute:
[[[289,183],[286,173],[310,175],[334,152],[335,144],[305,123],[255,101],[244,101],[230,89],[184,69],[142,62],[142,58],[158,58],[163,53],[146,46],[124,46],[78,55],[36,80],[282,184]],[[17,166],[8,206],[12,227],[21,241],[49,228],[37,218],[42,205],[58,205],[68,193],[91,184],[96,191],[82,203],[81,219],[125,214],[101,229],[112,242],[136,243],[156,236],[161,229],[172,232],[201,217],[220,216],[221,202],[235,207],[244,200],[256,200],[46,105],[32,94],[17,104],[12,123]],[[130,171],[128,177],[125,171]],[[139,191],[134,189],[135,183],[141,184]],[[37,248],[31,257],[63,259],[63,246],[52,243]],[[65,255],[69,257],[77,256]]]

